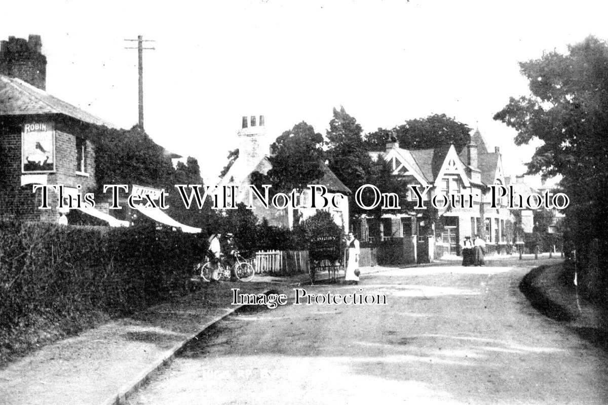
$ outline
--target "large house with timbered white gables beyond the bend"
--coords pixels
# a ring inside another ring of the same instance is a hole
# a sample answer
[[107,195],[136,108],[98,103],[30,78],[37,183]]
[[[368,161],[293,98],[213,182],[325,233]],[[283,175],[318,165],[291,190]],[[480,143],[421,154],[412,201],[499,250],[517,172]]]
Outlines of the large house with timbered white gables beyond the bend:
[[[390,162],[393,175],[407,185],[430,191],[424,195],[427,209],[410,209],[407,213],[391,214],[387,211],[380,220],[363,218],[363,240],[383,241],[395,238],[409,240],[405,249],[412,254],[410,260],[420,257],[437,257],[443,254],[460,254],[460,243],[465,236],[480,234],[488,242],[489,250],[505,250],[512,242],[512,223],[506,201],[490,208],[488,185],[505,185],[502,156],[498,148],[490,153],[477,130],[471,143],[457,153],[454,145],[434,149],[408,150],[398,143],[387,144],[378,155]],[[437,196],[456,196],[456,206],[434,209],[430,201]],[[407,189],[406,198],[416,201]],[[416,254],[420,251],[423,255]],[[427,256],[429,254],[429,256]]]

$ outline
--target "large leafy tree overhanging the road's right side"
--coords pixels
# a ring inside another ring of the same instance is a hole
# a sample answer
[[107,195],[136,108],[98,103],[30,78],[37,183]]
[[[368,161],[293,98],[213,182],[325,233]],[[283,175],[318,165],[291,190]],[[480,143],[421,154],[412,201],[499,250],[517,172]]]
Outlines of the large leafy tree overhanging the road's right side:
[[570,197],[571,236],[584,250],[598,238],[601,264],[608,262],[608,46],[593,36],[520,63],[530,95],[510,98],[494,119],[517,130],[515,143],[537,138],[543,145],[528,163],[528,174],[562,175]]

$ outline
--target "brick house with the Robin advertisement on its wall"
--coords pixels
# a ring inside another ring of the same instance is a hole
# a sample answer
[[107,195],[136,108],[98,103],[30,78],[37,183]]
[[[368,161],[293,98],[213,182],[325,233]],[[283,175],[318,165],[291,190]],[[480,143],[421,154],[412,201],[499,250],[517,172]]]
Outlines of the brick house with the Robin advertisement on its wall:
[[[32,192],[32,185],[64,185],[71,196],[94,191],[89,134],[94,126],[116,127],[44,90],[41,46],[37,35],[0,43],[0,217],[57,222],[57,194],[49,192],[50,209],[39,209],[41,192]],[[112,223],[107,214],[99,216]]]

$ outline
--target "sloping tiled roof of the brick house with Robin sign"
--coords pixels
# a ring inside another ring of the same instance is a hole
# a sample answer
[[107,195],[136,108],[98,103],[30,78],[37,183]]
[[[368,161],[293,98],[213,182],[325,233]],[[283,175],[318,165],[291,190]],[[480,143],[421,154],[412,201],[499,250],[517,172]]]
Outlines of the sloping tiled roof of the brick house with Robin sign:
[[85,123],[117,128],[20,79],[0,75],[0,115],[33,114],[63,114]]

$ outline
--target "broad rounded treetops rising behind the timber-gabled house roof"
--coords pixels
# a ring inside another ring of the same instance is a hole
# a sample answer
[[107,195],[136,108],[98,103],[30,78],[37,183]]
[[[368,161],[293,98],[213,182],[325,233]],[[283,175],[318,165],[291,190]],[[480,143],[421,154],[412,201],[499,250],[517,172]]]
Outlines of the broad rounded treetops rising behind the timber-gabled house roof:
[[404,149],[432,149],[440,145],[454,144],[460,151],[471,141],[471,128],[445,114],[429,115],[426,118],[407,120],[405,124],[393,128],[392,131],[378,128],[378,131],[367,135],[367,145],[370,150],[383,151],[395,133],[399,146]]

